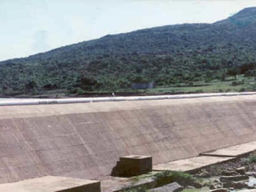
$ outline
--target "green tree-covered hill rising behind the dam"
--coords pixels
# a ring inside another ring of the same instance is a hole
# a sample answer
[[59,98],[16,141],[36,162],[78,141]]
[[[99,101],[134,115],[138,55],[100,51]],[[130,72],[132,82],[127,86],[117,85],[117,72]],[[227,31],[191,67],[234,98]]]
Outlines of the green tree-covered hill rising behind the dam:
[[[67,37],[68,38],[68,37]],[[256,8],[214,24],[181,24],[84,41],[0,62],[0,92],[115,91],[133,82],[223,79],[256,67]]]

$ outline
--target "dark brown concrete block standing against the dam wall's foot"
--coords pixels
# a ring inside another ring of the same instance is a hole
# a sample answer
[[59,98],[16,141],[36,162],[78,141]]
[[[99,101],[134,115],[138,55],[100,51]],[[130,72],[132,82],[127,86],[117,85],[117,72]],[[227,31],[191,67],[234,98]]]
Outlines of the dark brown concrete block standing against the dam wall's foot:
[[132,177],[152,171],[152,157],[143,155],[128,155],[120,157],[112,176]]

